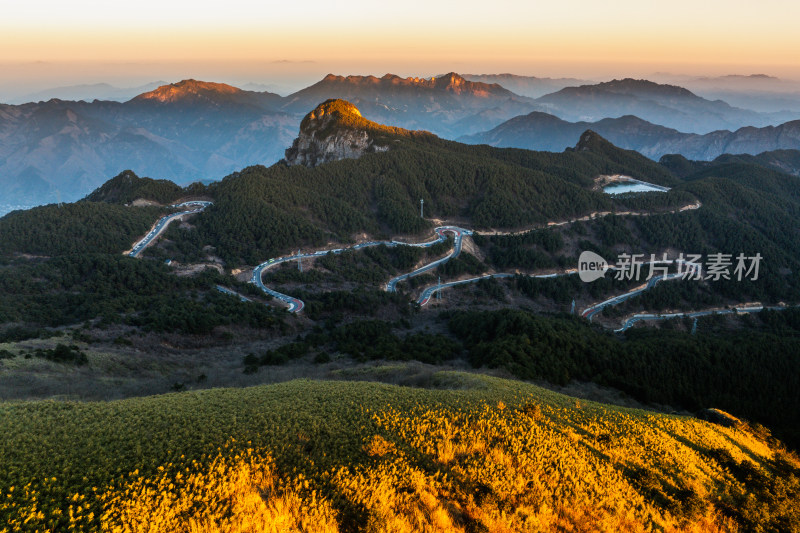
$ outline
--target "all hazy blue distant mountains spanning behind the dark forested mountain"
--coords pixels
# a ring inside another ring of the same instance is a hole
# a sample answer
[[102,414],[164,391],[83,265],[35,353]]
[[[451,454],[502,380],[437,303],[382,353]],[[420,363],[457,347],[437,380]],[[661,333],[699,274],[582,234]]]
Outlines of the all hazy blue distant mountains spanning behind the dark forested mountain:
[[[778,125],[800,114],[739,109],[676,86],[615,80],[562,88],[534,99],[487,82],[505,82],[535,95],[548,84],[556,88],[580,80],[470,77],[485,82],[455,73],[429,79],[331,74],[284,97],[184,80],[125,102],[53,99],[0,104],[0,186],[7,203],[36,204],[54,202],[59,194],[64,200],[80,198],[126,169],[183,184],[219,179],[249,165],[279,161],[295,138],[302,117],[330,98],[352,102],[377,122],[427,130],[449,139],[492,130],[509,119],[514,128],[541,131],[550,120],[542,117],[544,111],[571,121],[635,114],[643,120],[625,117],[609,122],[610,129],[595,129],[650,157],[686,151],[688,157],[709,159],[729,149],[758,153],[800,148],[793,144],[794,126],[789,125],[764,132],[748,130],[749,136],[757,137],[752,141],[746,136],[730,139],[725,132],[709,139],[680,133]],[[523,120],[533,111],[540,112],[534,115],[538,119]],[[524,126],[525,122],[536,124]],[[547,135],[531,134],[534,140],[524,139],[522,130],[509,134],[506,127],[503,135],[482,134],[469,142],[560,151],[575,144],[587,129],[584,126],[589,125],[551,121],[547,127],[555,129]]]

